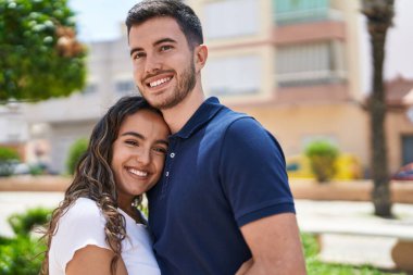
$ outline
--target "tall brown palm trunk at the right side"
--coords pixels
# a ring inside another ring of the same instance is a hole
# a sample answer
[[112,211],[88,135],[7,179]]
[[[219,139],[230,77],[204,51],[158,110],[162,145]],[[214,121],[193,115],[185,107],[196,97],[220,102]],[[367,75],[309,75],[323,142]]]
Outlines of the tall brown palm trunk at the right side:
[[383,80],[387,30],[395,16],[395,0],[362,0],[363,14],[367,17],[367,29],[372,48],[372,93],[367,102],[371,121],[371,163],[374,188],[372,200],[375,214],[391,216],[391,199],[385,135],[386,90]]

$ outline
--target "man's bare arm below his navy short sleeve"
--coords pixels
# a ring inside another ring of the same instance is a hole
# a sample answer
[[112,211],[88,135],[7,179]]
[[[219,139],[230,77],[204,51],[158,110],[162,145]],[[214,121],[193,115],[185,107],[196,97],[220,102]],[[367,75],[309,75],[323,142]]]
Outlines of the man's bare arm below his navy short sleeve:
[[295,214],[256,220],[243,225],[241,233],[252,253],[252,265],[243,274],[306,274]]

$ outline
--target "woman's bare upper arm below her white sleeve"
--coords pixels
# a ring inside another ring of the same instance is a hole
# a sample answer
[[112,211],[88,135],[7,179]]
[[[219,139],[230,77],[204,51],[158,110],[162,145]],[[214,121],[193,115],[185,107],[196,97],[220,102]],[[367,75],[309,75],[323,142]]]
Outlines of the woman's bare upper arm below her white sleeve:
[[[66,265],[66,275],[111,275],[111,261],[114,252],[97,246],[77,250]],[[117,260],[116,275],[127,275],[122,259]]]

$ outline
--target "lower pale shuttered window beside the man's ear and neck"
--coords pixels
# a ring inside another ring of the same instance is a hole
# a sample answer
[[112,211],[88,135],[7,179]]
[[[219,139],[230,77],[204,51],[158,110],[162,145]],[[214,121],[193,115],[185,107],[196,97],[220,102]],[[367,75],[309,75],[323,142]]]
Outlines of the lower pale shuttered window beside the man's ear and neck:
[[260,90],[261,59],[243,55],[209,60],[205,88],[212,95],[245,95]]

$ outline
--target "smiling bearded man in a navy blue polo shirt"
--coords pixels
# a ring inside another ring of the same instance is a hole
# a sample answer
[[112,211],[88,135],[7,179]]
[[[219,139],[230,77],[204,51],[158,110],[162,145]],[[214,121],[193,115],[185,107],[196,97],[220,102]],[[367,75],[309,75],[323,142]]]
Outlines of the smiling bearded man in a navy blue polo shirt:
[[204,98],[208,58],[193,11],[146,0],[126,25],[134,79],[168,124],[161,182],[148,195],[162,274],[305,274],[278,142],[256,121]]

